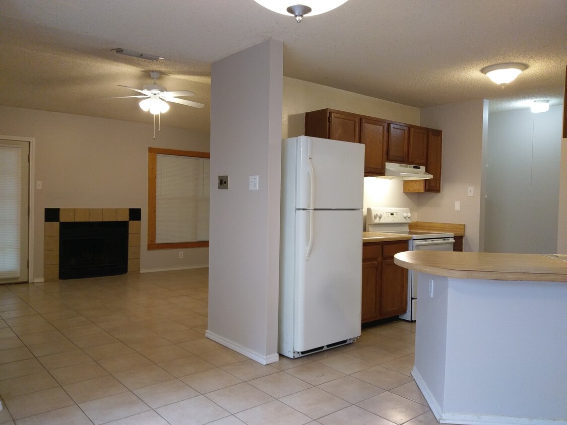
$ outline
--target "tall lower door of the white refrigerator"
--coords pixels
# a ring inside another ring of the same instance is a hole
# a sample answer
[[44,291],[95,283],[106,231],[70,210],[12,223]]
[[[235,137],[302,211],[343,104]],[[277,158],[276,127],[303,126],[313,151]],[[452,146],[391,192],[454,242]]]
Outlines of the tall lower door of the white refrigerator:
[[296,214],[294,349],[306,351],[358,337],[362,297],[361,211]]

